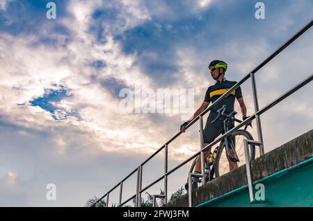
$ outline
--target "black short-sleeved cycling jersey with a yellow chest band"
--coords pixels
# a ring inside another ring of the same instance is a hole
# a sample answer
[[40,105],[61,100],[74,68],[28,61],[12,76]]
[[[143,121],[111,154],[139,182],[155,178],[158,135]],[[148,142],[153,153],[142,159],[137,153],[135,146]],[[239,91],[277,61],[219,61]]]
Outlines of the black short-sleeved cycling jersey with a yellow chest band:
[[[216,84],[209,86],[209,88],[207,89],[207,93],[205,93],[204,101],[214,103],[218,98],[220,98],[220,96],[223,96],[223,94],[226,93],[229,89],[231,89],[232,86],[234,86],[236,83],[237,82],[227,81],[227,79],[225,78],[222,80],[222,82],[216,82]],[[225,112],[227,114],[230,114],[230,112],[233,112],[235,97],[237,99],[242,98],[240,86],[236,90],[232,91],[232,93],[230,93],[230,95],[227,96],[227,98],[225,98],[218,105],[213,107],[211,109],[210,115],[211,114],[215,115],[216,111],[220,109],[220,107],[223,107],[223,105],[226,105]]]

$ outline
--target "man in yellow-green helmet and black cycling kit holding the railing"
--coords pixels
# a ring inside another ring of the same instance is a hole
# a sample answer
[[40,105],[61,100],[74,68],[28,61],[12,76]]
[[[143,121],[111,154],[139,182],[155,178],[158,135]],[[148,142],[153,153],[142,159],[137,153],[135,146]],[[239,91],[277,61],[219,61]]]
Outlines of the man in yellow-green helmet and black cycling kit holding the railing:
[[[226,70],[227,70],[227,63],[225,63],[224,61],[214,60],[214,61],[211,61],[211,63],[209,63],[209,73],[211,73],[211,76],[216,81],[216,83],[212,86],[209,86],[209,88],[207,89],[207,92],[205,93],[205,97],[204,97],[204,101],[202,102],[202,105],[197,109],[195,114],[193,114],[191,119],[189,119],[188,121],[186,121],[180,126],[181,132],[186,131],[185,129],[186,125],[190,121],[195,119],[201,112],[203,112],[204,109],[207,109],[210,102],[214,103],[218,98],[220,98],[220,96],[223,96],[223,94],[226,93],[227,90],[232,88],[232,86],[234,86],[234,84],[237,83],[237,82],[230,82],[225,78]],[[233,112],[235,98],[237,98],[239,102],[239,105],[241,108],[241,114],[243,115],[243,121],[248,118],[246,116],[247,114],[246,105],[245,105],[245,102],[243,102],[243,96],[241,93],[241,88],[239,86],[236,90],[232,91],[232,93],[230,93],[230,95],[227,96],[227,98],[219,102],[218,105],[216,105],[215,107],[213,107],[213,109],[211,109],[211,112],[207,118],[207,123],[205,124],[205,128],[204,128],[204,146],[207,146],[209,143],[213,142],[214,139],[216,139],[216,137],[220,135],[220,133],[222,134],[224,133],[223,120],[225,119],[225,117],[220,116],[220,118],[214,123],[211,123],[211,121],[214,121],[214,119],[216,119],[216,117],[218,116],[218,113],[216,112],[216,110],[220,109],[220,107],[222,107],[223,105],[226,105],[226,110],[225,110],[226,114],[230,114],[231,112]],[[234,122],[232,122],[231,125],[229,125],[229,128],[233,128],[233,127],[234,127]],[[210,151],[211,151],[211,148],[204,153],[204,159],[207,159],[207,156],[209,155]],[[230,152],[232,153],[232,151]],[[227,160],[230,165],[230,171],[232,171],[233,169],[238,167],[238,165],[236,162],[233,162],[232,161],[233,159],[230,157],[232,156],[227,156]],[[194,173],[199,173],[199,174],[201,173],[200,157],[198,157],[196,160]],[[198,178],[193,179],[193,188],[198,187],[198,182],[199,182]]]

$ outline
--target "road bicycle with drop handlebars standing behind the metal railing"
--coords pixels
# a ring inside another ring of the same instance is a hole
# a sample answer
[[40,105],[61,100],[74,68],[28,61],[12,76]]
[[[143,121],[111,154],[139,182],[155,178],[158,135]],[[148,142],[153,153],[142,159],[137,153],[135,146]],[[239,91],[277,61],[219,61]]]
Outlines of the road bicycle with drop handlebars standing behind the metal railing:
[[[237,114],[237,112],[231,112],[230,114],[225,114],[225,109],[226,109],[226,105],[223,105],[223,107],[218,109],[217,111],[218,116],[216,117],[216,119],[214,119],[214,121],[219,119],[220,116],[225,116],[225,120],[223,121],[223,124],[224,124],[223,128],[219,132],[224,130],[226,133],[229,131],[228,125],[230,123],[232,123],[233,121],[241,123],[242,121],[235,119],[234,116]],[[214,121],[212,121],[211,123],[214,123]],[[243,139],[253,140],[253,137],[250,134],[250,132],[246,130],[247,127],[248,125],[246,125],[243,130],[242,129],[236,130],[230,136],[225,137],[220,142],[220,145],[214,149],[214,152],[209,153],[207,159],[205,159],[205,167],[204,167],[206,182],[209,182],[213,180],[214,178],[217,178],[218,176],[227,174],[229,172],[229,170],[227,171],[227,167],[229,165],[227,158],[229,158],[232,162],[236,162],[238,167],[245,164]],[[230,153],[231,151],[232,153]],[[250,152],[250,160],[254,160],[255,159],[255,145],[250,145],[249,152]],[[191,169],[189,170],[190,173],[193,172],[196,160],[197,158],[193,160]],[[199,183],[200,182],[201,182],[201,179],[199,179]],[[193,188],[196,188],[196,187],[193,187]],[[188,179],[185,185],[185,189],[188,192]]]

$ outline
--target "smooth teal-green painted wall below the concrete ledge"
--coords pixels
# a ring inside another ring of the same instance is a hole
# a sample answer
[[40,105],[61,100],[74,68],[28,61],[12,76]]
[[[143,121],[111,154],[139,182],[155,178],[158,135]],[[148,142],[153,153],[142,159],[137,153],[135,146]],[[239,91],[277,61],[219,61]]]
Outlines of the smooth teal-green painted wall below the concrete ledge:
[[313,206],[312,158],[258,183],[264,184],[265,189],[266,202],[262,204],[250,204],[248,187],[245,186],[199,206]]

